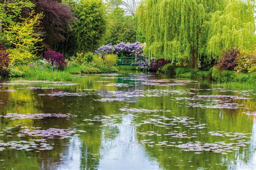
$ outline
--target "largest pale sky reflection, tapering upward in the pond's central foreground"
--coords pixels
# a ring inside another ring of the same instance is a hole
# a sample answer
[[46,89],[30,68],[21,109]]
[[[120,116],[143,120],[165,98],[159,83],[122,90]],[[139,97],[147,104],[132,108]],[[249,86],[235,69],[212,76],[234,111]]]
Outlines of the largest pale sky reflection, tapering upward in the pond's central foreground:
[[159,168],[157,160],[149,158],[144,147],[138,143],[136,128],[132,122],[132,117],[124,115],[122,123],[117,127],[119,132],[117,136],[114,139],[103,138],[99,169]]

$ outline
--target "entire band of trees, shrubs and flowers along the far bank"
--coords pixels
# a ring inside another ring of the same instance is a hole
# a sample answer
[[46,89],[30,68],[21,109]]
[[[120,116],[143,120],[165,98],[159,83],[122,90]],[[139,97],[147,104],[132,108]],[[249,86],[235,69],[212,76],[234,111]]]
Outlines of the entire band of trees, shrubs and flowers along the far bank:
[[255,74],[254,1],[0,2],[2,76],[115,72],[122,57],[172,76]]

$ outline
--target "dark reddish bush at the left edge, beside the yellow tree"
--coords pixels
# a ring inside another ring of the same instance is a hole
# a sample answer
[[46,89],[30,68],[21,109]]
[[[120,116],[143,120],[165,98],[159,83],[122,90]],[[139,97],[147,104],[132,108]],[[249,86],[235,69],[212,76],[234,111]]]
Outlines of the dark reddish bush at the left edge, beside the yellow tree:
[[8,74],[8,67],[10,63],[9,53],[6,52],[6,49],[3,44],[0,43],[0,74]]

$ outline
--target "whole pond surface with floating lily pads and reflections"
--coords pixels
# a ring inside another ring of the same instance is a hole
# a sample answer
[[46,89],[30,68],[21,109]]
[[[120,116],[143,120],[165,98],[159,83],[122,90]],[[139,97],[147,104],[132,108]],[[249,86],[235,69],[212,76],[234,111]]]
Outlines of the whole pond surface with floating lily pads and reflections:
[[120,72],[0,81],[3,169],[254,169],[256,91]]

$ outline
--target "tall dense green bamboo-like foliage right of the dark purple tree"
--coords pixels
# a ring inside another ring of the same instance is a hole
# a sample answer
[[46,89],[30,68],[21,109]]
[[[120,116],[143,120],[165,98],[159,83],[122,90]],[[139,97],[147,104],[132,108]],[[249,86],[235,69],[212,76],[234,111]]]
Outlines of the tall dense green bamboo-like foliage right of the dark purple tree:
[[72,12],[77,21],[72,22],[68,40],[60,49],[70,56],[76,52],[95,51],[102,43],[106,32],[106,16],[101,1],[79,1],[73,3]]

